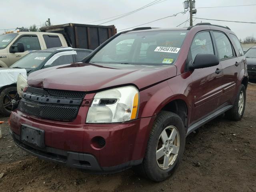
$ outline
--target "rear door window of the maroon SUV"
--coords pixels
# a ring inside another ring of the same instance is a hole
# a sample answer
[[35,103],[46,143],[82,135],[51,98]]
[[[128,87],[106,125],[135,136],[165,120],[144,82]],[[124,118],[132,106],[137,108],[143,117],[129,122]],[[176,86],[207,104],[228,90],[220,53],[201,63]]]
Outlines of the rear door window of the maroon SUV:
[[214,31],[213,34],[216,40],[219,58],[224,59],[224,58],[233,57],[234,55],[233,55],[232,46],[227,36],[222,32],[216,32],[216,31]]

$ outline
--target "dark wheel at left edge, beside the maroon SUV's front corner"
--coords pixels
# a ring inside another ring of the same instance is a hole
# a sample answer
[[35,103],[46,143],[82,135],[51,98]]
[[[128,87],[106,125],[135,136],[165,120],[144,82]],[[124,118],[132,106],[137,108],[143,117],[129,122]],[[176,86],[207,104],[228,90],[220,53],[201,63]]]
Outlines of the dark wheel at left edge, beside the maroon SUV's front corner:
[[9,116],[12,112],[12,105],[20,100],[16,86],[4,88],[0,92],[0,113]]

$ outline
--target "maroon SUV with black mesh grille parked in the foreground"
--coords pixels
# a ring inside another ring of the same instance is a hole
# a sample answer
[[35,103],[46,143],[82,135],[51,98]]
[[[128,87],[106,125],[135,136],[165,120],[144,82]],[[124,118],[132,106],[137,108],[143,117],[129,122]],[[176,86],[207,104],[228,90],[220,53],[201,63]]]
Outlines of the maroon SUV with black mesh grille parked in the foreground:
[[94,172],[134,167],[162,181],[188,134],[223,114],[244,114],[248,74],[228,28],[136,28],[83,62],[33,72],[10,131],[23,150]]

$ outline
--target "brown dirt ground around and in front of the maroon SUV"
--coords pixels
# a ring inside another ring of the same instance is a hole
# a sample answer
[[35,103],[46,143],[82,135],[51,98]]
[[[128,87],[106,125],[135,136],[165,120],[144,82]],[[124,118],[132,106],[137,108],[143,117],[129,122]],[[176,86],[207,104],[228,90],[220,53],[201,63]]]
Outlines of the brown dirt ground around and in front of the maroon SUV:
[[256,85],[247,89],[244,117],[212,120],[186,138],[182,163],[160,183],[132,170],[98,175],[30,156],[15,146],[8,118],[0,125],[0,192],[256,192]]

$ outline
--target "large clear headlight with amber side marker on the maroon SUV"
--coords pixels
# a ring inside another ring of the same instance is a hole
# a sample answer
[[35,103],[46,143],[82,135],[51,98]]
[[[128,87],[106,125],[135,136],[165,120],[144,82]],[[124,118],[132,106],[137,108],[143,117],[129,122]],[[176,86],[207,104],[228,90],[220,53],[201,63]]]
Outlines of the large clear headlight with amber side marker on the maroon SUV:
[[95,94],[86,123],[113,123],[137,116],[139,92],[134,86],[114,88]]

